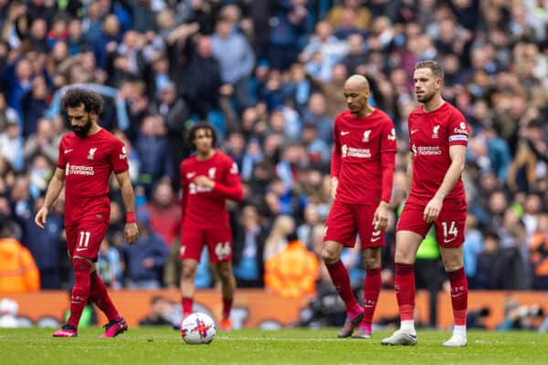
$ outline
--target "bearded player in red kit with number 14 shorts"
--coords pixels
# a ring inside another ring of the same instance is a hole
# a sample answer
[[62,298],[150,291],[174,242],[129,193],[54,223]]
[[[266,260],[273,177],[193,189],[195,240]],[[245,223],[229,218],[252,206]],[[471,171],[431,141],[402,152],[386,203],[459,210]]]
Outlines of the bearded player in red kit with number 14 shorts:
[[408,119],[413,178],[406,205],[396,228],[395,296],[401,328],[383,339],[384,345],[415,345],[414,264],[416,250],[432,224],[451,286],[455,327],[445,347],[464,347],[468,284],[462,244],[466,222],[466,195],[460,174],[464,169],[469,128],[462,114],[441,98],[443,69],[437,61],[416,64],[416,99],[422,106]]

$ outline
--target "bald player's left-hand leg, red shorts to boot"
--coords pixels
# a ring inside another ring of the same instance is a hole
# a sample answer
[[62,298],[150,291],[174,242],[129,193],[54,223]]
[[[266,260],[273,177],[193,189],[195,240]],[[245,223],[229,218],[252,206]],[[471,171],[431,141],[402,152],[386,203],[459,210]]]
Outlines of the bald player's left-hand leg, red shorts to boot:
[[353,246],[356,234],[352,207],[335,201],[325,223],[321,258],[335,289],[346,305],[347,320],[337,335],[339,338],[352,336],[354,326],[364,318],[364,309],[353,294],[348,270],[341,261],[342,248],[344,245]]

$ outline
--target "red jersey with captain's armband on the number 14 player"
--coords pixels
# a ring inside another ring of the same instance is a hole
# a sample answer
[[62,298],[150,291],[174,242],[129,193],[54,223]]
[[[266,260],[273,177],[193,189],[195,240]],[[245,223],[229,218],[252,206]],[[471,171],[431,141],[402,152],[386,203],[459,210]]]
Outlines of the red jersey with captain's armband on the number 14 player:
[[[448,172],[449,146],[468,145],[469,128],[460,111],[448,102],[437,110],[422,107],[409,114],[409,151],[413,153],[413,181],[409,201],[426,205],[434,197]],[[459,180],[446,199],[466,203],[464,184]]]

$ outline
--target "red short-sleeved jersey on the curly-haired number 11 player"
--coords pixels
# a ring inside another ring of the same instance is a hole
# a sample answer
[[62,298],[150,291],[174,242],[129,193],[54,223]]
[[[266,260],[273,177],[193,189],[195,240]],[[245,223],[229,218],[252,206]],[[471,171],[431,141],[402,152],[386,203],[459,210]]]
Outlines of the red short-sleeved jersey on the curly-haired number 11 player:
[[70,132],[59,143],[58,168],[65,170],[65,224],[90,215],[108,222],[109,177],[129,168],[123,143],[104,129],[84,138]]

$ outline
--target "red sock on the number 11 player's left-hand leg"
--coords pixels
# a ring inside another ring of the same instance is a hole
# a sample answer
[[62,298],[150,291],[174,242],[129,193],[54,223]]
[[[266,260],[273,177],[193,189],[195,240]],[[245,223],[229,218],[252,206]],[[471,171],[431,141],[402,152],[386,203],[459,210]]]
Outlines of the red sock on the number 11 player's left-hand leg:
[[77,258],[72,260],[72,267],[74,268],[74,287],[70,296],[70,316],[67,324],[78,328],[79,318],[90,296],[91,263]]

